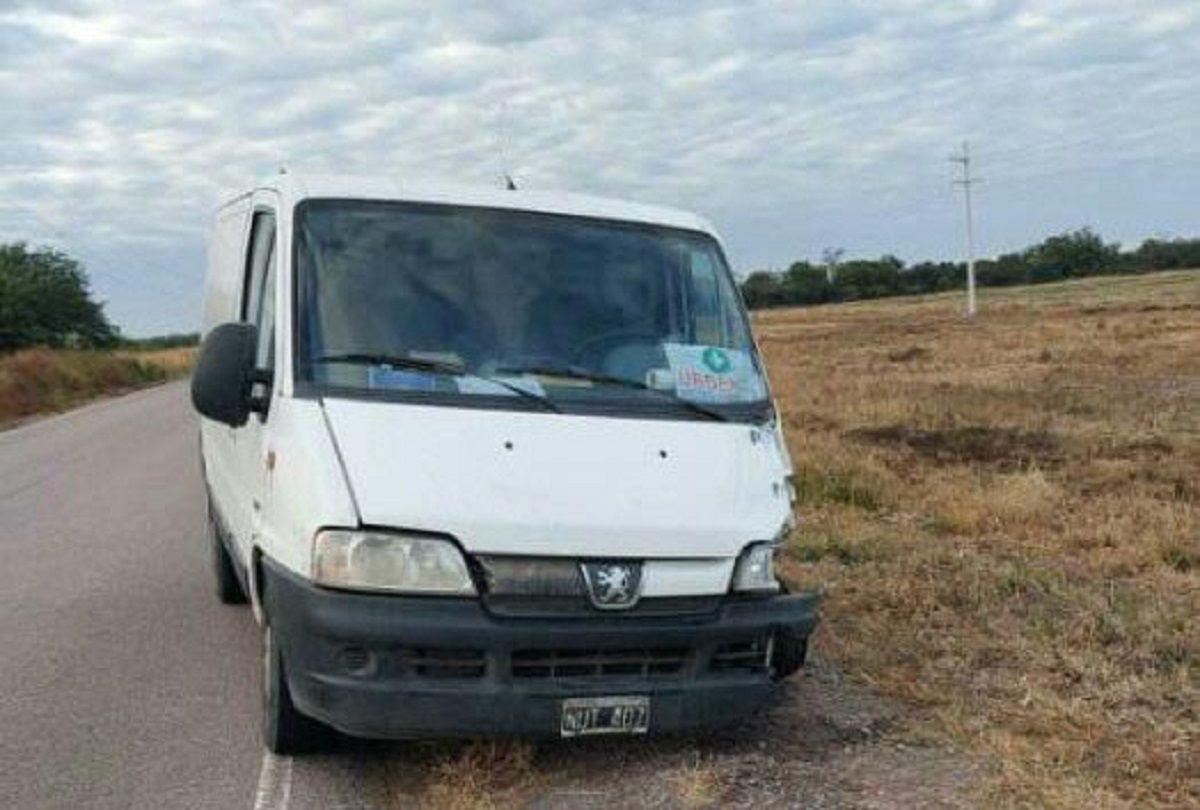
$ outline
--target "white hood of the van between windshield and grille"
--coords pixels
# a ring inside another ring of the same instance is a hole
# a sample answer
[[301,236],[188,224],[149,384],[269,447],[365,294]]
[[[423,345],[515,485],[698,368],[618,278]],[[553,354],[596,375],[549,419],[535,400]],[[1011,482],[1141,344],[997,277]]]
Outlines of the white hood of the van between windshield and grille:
[[365,526],[472,552],[733,557],[776,535],[788,463],[773,428],[323,402]]

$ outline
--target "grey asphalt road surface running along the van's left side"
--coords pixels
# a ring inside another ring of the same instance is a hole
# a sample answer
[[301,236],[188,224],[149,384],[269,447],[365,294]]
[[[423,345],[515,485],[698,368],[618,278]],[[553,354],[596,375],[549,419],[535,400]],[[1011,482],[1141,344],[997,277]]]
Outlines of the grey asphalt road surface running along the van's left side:
[[0,432],[0,806],[252,806],[258,632],[203,528],[181,384]]

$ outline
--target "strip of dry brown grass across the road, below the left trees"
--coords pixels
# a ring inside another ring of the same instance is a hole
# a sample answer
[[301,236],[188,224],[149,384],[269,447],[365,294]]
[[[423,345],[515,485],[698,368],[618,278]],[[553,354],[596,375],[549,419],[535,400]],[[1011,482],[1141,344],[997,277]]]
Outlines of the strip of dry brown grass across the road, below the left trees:
[[82,352],[32,348],[0,356],[0,427],[88,400],[181,377],[196,349]]

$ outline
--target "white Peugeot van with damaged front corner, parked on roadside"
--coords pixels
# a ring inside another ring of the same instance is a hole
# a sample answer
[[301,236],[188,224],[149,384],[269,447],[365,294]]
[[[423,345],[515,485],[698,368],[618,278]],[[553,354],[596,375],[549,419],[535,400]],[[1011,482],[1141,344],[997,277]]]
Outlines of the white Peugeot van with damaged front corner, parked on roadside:
[[204,330],[271,750],[710,726],[802,665],[791,462],[703,220],[282,174],[218,211]]

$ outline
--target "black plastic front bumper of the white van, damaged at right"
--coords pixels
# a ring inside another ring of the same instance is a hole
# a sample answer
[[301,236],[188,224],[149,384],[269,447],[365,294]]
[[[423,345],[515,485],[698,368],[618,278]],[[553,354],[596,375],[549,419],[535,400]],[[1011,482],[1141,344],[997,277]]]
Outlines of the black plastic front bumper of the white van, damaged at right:
[[358,737],[551,736],[563,698],[648,695],[650,732],[732,722],[770,695],[775,634],[817,598],[703,616],[498,618],[475,599],[330,590],[264,559],[263,604],[292,700]]

